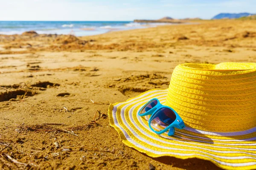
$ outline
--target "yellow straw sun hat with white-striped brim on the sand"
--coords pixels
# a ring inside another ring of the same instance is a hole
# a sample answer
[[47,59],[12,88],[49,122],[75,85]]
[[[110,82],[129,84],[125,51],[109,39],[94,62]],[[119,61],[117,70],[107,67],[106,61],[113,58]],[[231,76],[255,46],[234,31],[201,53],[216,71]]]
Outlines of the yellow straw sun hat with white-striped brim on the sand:
[[[157,98],[186,127],[157,135],[137,112]],[[148,156],[199,158],[218,167],[256,169],[256,63],[178,65],[169,88],[111,104],[110,124],[122,142]]]

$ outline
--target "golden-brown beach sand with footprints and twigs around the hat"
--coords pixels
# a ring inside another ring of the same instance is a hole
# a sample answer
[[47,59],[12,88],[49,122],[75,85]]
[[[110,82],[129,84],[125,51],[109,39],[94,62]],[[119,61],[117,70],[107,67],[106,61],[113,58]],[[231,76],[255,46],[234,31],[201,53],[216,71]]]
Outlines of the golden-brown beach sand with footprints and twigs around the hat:
[[12,157],[52,170],[218,169],[148,157],[121,142],[107,115],[110,103],[168,88],[180,63],[256,62],[256,21],[198,22],[90,37],[0,35],[0,167],[25,168]]

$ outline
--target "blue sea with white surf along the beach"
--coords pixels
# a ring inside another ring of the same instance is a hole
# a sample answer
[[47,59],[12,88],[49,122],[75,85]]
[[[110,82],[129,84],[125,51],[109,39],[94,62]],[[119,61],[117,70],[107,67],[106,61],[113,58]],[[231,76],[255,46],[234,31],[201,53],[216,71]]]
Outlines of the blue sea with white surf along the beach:
[[134,23],[132,21],[0,21],[0,34],[73,34],[77,37],[104,34],[109,31],[155,27],[170,23]]

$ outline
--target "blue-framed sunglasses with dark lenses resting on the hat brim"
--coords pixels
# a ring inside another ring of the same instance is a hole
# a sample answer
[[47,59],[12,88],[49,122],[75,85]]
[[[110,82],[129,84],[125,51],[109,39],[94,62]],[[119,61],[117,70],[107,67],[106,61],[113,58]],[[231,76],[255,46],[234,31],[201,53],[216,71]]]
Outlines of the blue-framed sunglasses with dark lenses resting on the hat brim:
[[169,130],[168,135],[172,136],[175,132],[174,127],[178,129],[185,127],[178,113],[172,108],[162,105],[156,98],[147,102],[143,108],[140,109],[138,115],[151,115],[148,120],[148,126],[157,134],[162,134]]

